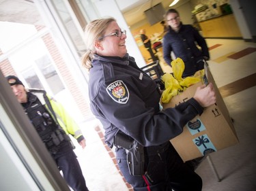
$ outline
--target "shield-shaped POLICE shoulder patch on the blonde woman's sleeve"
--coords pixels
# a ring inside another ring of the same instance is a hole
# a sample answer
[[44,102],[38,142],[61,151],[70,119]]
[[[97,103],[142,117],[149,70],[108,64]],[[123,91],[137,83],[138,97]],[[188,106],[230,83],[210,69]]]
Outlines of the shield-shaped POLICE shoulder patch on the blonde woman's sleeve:
[[106,87],[106,92],[117,103],[126,104],[129,99],[129,91],[122,80],[117,80]]

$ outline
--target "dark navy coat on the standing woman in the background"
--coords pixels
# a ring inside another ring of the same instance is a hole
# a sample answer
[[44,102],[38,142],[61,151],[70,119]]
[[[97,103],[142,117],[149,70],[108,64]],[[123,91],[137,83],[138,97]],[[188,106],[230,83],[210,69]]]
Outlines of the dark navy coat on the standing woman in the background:
[[[200,48],[197,47],[200,46]],[[171,52],[176,58],[182,58],[185,63],[184,75],[193,75],[197,69],[197,62],[203,56],[210,58],[205,39],[190,24],[182,24],[178,32],[169,27],[163,38],[163,56],[165,62],[171,65]],[[203,65],[202,65],[203,66]],[[203,69],[203,68],[200,68]]]

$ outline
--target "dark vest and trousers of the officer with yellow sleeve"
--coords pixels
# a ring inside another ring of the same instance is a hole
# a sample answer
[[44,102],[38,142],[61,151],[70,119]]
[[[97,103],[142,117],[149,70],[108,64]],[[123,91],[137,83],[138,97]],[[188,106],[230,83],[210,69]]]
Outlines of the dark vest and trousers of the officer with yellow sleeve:
[[[67,184],[78,191],[87,191],[85,179],[81,171],[76,154],[70,144],[70,137],[59,126],[50,101],[47,101],[44,90],[36,90],[37,94],[44,94],[46,103],[43,105],[40,99],[32,92],[27,92],[27,103],[22,103],[25,113],[31,120],[40,138],[46,145],[57,167],[63,172]],[[48,103],[47,103],[48,102]],[[51,110],[51,111],[50,111]],[[83,137],[80,137],[83,139]]]

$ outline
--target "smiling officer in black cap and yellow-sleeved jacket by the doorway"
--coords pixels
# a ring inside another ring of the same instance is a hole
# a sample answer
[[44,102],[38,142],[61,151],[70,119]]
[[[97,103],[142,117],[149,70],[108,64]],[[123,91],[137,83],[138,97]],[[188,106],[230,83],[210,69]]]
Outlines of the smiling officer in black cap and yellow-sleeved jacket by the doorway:
[[6,77],[16,99],[31,120],[42,141],[62,171],[68,186],[75,191],[88,191],[79,161],[73,149],[72,135],[85,148],[85,138],[79,126],[68,116],[63,106],[48,97],[44,90],[26,90],[14,75]]

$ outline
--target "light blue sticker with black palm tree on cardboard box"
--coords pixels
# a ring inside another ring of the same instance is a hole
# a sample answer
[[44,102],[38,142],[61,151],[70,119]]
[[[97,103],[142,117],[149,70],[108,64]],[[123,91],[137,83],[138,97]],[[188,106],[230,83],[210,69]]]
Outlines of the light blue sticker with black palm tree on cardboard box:
[[197,148],[199,149],[201,154],[203,154],[203,156],[211,152],[217,151],[212,141],[206,134],[193,139],[193,142],[195,143],[195,145],[197,145]]

